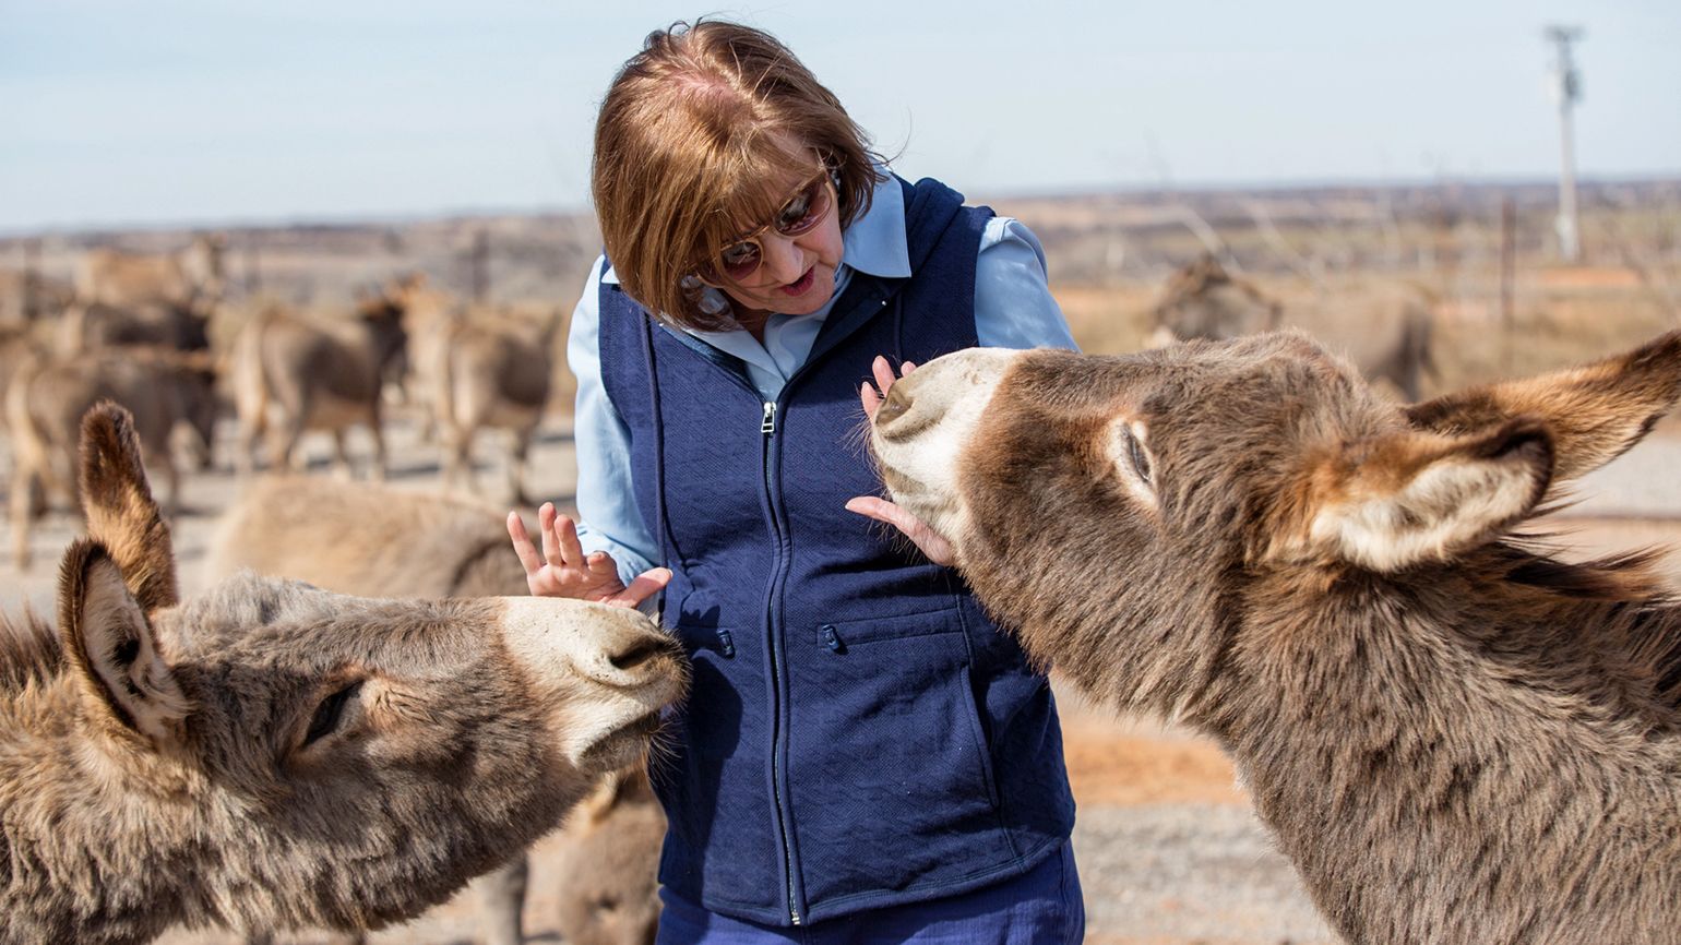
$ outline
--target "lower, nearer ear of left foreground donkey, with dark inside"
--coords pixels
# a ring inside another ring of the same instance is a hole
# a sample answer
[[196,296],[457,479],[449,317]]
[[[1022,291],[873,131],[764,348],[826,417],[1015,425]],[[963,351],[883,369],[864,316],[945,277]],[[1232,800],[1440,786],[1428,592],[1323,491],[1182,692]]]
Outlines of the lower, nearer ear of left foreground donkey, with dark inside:
[[[104,546],[79,540],[59,572],[59,636],[82,691],[114,731],[161,745],[188,713],[151,624]],[[99,711],[103,710],[103,711]]]

